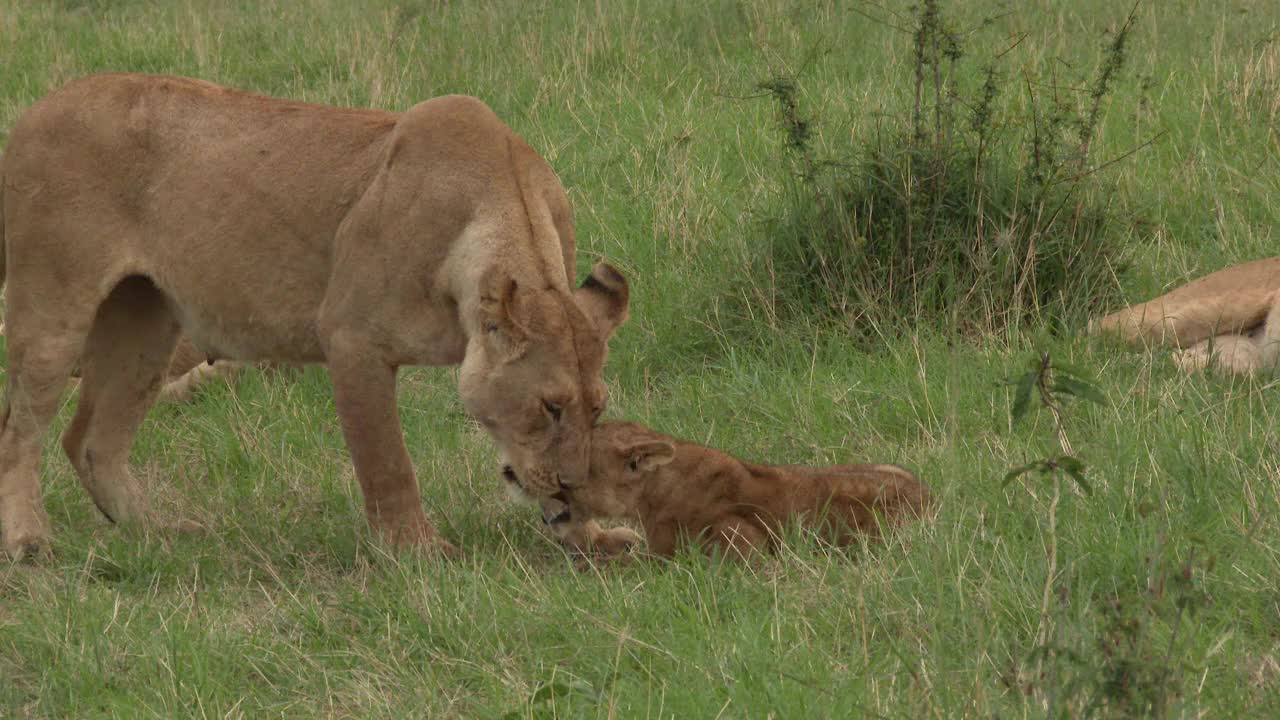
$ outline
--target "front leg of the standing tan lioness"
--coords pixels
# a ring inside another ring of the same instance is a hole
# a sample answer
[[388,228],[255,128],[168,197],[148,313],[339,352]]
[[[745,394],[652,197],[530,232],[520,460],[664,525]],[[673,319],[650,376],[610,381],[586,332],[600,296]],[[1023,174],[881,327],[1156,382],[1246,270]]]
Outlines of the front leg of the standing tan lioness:
[[369,357],[360,350],[369,347],[365,343],[335,345],[330,343],[329,375],[370,527],[398,547],[456,553],[422,512],[396,406],[396,368]]

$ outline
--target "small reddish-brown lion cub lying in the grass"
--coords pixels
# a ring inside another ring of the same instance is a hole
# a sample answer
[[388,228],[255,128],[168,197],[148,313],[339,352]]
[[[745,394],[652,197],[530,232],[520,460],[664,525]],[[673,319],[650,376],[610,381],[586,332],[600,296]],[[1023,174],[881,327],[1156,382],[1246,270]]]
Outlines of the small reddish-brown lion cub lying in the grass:
[[932,502],[928,488],[897,465],[753,465],[621,421],[593,430],[589,478],[564,488],[563,500],[568,512],[557,520],[639,520],[649,551],[663,557],[686,538],[726,555],[772,551],[790,520],[850,544]]

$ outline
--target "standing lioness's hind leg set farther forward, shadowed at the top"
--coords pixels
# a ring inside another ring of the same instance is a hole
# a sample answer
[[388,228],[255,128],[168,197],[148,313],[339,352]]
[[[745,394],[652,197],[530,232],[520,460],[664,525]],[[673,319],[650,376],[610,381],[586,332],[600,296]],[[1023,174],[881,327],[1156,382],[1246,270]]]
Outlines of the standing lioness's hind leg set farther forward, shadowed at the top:
[[146,278],[125,278],[99,307],[82,359],[79,404],[63,450],[111,521],[150,507],[129,471],[129,448],[165,378],[178,323]]

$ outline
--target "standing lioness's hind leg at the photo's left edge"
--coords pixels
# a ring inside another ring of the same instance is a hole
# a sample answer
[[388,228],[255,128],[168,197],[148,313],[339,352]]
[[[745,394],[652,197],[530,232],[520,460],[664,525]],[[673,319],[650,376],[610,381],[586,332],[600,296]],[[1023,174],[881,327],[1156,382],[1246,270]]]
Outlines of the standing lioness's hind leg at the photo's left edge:
[[41,441],[83,340],[74,324],[64,328],[40,336],[15,333],[12,322],[8,328],[9,378],[0,411],[0,551],[14,559],[47,550],[49,518],[40,493]]

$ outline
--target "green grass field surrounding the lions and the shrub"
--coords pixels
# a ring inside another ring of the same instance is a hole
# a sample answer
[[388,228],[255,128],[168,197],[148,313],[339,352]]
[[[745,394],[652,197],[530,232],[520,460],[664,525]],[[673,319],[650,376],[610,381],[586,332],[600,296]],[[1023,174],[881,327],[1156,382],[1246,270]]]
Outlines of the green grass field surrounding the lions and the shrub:
[[[993,12],[963,5],[961,27]],[[1088,74],[1128,6],[1007,10],[975,42],[1043,77]],[[0,0],[0,128],[109,69],[390,109],[484,99],[568,188],[580,272],[631,278],[609,416],[750,459],[901,462],[940,498],[884,547],[576,571],[506,498],[453,372],[419,369],[402,419],[465,557],[393,557],[311,368],[152,413],[137,471],[206,532],[147,533],[109,525],[58,450],[70,395],[44,468],[55,559],[0,566],[0,717],[1280,716],[1276,378],[1185,377],[1047,323],[867,350],[744,310],[768,295],[753,258],[783,182],[756,83],[796,72],[824,147],[909,106],[910,36],[864,13],[899,22],[823,0]],[[1280,254],[1280,5],[1139,8],[1096,158],[1157,135],[1105,170],[1144,228],[1120,238],[1125,299]],[[1055,451],[1050,415],[1012,424],[1001,384],[1038,351],[1108,398],[1066,411],[1089,495],[1001,484]]]

